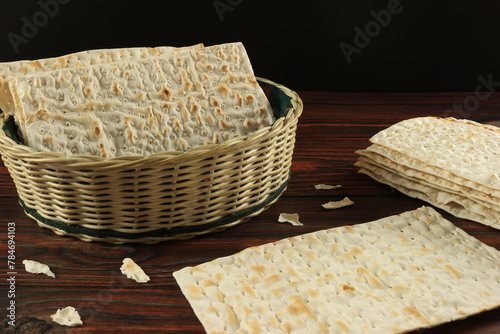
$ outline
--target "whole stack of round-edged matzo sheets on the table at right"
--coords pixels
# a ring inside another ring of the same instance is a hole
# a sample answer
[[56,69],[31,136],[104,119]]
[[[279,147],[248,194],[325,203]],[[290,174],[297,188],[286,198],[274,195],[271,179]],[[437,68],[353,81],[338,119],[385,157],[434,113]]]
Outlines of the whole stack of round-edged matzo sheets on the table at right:
[[357,151],[360,172],[465,219],[500,228],[500,128],[418,117]]

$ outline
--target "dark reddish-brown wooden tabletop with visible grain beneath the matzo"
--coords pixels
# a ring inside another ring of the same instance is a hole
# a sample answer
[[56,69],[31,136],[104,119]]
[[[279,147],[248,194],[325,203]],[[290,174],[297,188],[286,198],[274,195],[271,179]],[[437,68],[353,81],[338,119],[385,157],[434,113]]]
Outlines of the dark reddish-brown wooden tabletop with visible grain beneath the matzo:
[[[172,277],[173,271],[249,246],[416,209],[426,203],[357,173],[354,151],[368,146],[368,139],[376,132],[410,117],[467,116],[480,122],[500,118],[500,94],[496,93],[483,93],[481,99],[475,93],[298,93],[304,101],[304,112],[288,189],[267,211],[220,233],[155,245],[86,243],[57,236],[25,216],[12,180],[1,165],[1,317],[8,312],[8,300],[13,299],[16,333],[203,333]],[[342,188],[315,190],[318,183],[341,184]],[[321,206],[344,196],[355,205],[338,210]],[[474,237],[500,249],[500,230],[438,211]],[[299,213],[304,226],[278,223],[282,212]],[[15,223],[15,298],[7,298],[6,291],[10,288],[6,281],[12,276],[7,274],[9,222]],[[137,284],[126,279],[119,270],[125,257],[133,258],[151,281]],[[22,260],[28,258],[51,266],[56,278],[27,273]],[[51,321],[50,314],[69,305],[78,309],[83,326],[68,328]],[[8,324],[0,325],[1,333],[13,330]],[[421,332],[500,333],[500,309]]]

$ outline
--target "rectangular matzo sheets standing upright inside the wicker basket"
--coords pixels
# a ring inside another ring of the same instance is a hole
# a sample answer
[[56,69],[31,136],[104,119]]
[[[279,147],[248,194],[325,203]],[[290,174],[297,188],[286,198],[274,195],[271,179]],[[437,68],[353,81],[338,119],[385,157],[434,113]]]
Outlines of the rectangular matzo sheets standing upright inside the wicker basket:
[[0,64],[0,75],[0,107],[41,151],[185,151],[275,120],[241,43],[87,51]]

